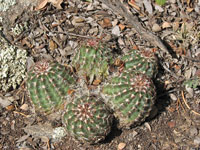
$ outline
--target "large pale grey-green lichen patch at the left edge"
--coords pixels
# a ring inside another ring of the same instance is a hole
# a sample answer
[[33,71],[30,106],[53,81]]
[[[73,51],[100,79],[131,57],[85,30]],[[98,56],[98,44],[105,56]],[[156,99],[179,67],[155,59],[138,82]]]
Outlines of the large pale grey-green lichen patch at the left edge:
[[27,52],[0,36],[0,90],[16,89],[26,74]]

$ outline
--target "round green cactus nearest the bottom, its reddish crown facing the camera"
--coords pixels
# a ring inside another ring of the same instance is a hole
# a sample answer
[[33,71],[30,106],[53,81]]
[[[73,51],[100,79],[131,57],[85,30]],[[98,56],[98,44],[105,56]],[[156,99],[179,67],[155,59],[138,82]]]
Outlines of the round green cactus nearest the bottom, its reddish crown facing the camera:
[[80,142],[97,143],[110,132],[113,115],[100,98],[82,96],[66,105],[63,124]]

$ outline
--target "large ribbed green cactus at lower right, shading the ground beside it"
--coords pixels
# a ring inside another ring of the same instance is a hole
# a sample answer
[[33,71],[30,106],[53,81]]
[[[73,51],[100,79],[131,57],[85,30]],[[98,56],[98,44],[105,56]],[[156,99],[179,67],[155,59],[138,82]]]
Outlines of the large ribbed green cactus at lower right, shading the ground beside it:
[[124,71],[102,88],[102,97],[114,110],[119,127],[138,125],[152,109],[155,87],[145,74]]

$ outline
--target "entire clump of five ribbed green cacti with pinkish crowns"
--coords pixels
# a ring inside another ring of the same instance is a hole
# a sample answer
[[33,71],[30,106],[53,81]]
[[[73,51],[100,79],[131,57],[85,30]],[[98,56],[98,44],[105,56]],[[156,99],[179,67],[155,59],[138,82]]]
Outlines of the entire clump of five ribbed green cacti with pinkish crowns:
[[[65,129],[81,142],[103,140],[111,130],[113,117],[119,120],[119,128],[141,123],[154,104],[151,78],[156,72],[155,59],[134,50],[118,58],[121,63],[116,65],[107,51],[100,44],[84,45],[75,53],[72,69],[42,61],[28,73],[33,104],[45,112],[64,105]],[[118,67],[114,73],[110,71],[113,66]],[[95,85],[95,80],[101,83]]]

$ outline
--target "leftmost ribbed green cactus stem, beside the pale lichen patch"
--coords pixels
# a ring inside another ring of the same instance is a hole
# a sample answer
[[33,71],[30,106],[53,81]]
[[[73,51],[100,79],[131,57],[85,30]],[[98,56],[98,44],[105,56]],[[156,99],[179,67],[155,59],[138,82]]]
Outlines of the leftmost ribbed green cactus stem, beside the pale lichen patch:
[[70,70],[57,62],[43,60],[28,72],[27,89],[36,109],[52,112],[63,104],[73,83]]

